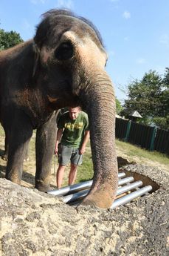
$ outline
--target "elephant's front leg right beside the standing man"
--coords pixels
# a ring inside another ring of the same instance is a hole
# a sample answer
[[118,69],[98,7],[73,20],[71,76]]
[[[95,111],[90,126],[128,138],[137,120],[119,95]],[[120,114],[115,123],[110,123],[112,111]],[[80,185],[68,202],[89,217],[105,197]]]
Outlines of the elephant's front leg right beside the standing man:
[[36,132],[36,174],[35,188],[40,191],[48,191],[50,183],[50,171],[52,156],[56,140],[56,115],[52,117]]

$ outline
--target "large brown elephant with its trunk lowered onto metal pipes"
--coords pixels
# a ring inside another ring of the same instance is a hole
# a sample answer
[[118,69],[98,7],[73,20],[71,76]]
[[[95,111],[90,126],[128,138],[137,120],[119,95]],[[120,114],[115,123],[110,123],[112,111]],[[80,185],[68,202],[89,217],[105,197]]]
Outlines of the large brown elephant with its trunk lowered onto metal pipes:
[[82,205],[108,209],[117,191],[114,88],[97,28],[69,10],[44,13],[35,36],[0,53],[0,120],[8,134],[6,178],[21,184],[24,154],[35,139],[35,188],[48,191],[56,113],[81,105],[89,116],[94,177]]

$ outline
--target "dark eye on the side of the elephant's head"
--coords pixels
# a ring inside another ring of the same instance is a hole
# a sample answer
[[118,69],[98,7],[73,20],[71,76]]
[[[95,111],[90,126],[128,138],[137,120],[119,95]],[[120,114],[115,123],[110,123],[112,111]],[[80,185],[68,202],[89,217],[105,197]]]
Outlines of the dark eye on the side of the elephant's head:
[[73,45],[71,42],[63,42],[55,50],[55,57],[58,60],[70,59],[73,56]]

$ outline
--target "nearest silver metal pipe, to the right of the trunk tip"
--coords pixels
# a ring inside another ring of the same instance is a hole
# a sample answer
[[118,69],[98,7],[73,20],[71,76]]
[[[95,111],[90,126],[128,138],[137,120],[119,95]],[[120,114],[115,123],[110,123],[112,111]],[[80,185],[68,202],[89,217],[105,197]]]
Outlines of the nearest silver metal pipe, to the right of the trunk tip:
[[143,188],[140,188],[137,191],[132,192],[131,194],[127,194],[124,197],[114,200],[114,203],[112,204],[111,209],[114,209],[117,206],[123,206],[125,203],[129,203],[131,202],[131,200],[134,200],[137,197],[141,197],[143,194],[148,193],[151,190],[152,190],[152,186],[148,185]]

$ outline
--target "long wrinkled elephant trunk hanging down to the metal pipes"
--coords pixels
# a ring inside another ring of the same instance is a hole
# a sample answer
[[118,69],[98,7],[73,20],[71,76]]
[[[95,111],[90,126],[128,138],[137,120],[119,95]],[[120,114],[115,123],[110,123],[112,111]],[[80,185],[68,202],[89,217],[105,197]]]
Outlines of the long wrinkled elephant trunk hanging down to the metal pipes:
[[94,181],[83,204],[106,209],[117,191],[118,171],[115,151],[115,99],[109,77],[98,79],[82,93],[89,115]]

